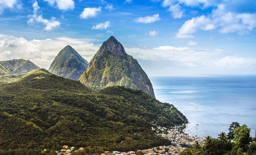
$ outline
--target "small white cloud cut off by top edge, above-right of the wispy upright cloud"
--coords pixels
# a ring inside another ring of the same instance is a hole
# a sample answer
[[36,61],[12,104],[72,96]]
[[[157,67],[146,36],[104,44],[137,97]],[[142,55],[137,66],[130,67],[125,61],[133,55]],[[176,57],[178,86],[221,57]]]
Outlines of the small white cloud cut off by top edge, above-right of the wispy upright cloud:
[[51,6],[57,5],[59,10],[73,10],[75,8],[75,3],[73,0],[44,0],[48,2]]

